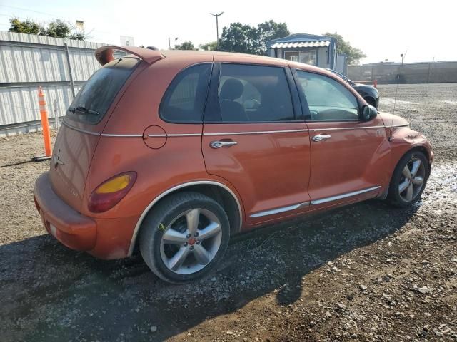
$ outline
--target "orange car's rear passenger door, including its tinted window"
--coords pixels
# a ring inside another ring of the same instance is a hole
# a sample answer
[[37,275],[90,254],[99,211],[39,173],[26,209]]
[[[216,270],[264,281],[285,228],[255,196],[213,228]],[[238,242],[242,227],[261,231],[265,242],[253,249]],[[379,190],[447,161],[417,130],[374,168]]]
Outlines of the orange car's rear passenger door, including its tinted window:
[[249,224],[308,210],[308,128],[289,68],[215,63],[202,151],[207,172],[241,195]]

